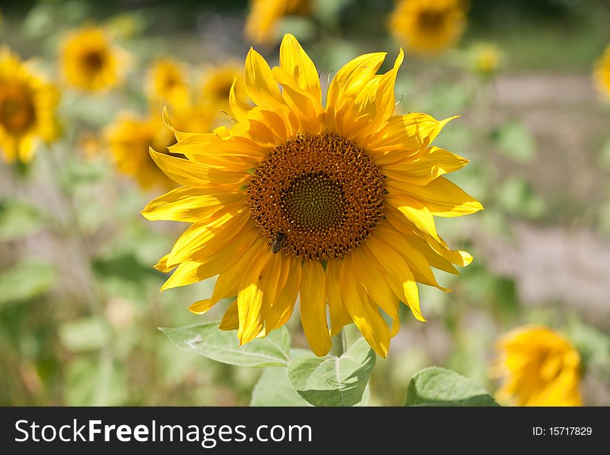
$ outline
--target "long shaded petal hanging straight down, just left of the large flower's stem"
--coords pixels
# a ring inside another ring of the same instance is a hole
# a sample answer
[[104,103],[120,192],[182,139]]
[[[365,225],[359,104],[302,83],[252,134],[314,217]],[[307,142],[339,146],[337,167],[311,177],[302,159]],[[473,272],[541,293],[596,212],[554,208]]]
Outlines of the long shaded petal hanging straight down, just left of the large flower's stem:
[[326,301],[324,292],[324,269],[320,262],[303,262],[301,278],[301,322],[309,347],[318,357],[331,350],[329,325],[326,323]]

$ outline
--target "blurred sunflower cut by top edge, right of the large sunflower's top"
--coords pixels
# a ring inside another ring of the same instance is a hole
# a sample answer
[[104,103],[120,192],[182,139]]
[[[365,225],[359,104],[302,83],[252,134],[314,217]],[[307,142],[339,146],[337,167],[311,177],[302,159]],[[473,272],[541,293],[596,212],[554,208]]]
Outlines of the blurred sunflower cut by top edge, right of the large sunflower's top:
[[453,46],[466,24],[462,0],[400,0],[390,30],[408,51],[436,54]]

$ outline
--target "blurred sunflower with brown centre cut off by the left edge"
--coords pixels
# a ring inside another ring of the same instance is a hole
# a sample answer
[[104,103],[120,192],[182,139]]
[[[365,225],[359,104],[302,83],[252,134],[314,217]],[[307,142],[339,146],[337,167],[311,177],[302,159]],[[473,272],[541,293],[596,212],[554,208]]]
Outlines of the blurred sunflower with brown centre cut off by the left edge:
[[0,48],[0,149],[8,163],[29,162],[41,139],[58,134],[57,89],[38,78],[12,54]]

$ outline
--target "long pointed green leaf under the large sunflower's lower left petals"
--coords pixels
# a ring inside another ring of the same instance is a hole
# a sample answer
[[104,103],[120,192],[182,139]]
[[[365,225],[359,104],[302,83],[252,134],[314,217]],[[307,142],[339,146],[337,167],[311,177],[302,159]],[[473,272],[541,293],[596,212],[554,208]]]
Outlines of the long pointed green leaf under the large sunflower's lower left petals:
[[265,338],[238,345],[235,330],[220,330],[218,322],[180,328],[159,327],[179,348],[208,359],[238,366],[286,366],[290,360],[290,334],[285,327]]

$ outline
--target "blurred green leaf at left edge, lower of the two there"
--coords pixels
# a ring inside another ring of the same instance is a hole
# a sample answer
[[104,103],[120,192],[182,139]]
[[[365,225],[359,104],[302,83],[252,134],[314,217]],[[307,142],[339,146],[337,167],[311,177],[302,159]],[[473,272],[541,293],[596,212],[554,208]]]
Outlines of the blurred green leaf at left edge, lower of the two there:
[[0,274],[0,305],[31,300],[51,289],[54,282],[52,265],[24,259]]

